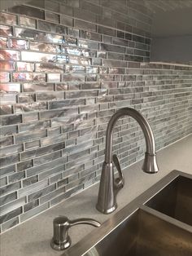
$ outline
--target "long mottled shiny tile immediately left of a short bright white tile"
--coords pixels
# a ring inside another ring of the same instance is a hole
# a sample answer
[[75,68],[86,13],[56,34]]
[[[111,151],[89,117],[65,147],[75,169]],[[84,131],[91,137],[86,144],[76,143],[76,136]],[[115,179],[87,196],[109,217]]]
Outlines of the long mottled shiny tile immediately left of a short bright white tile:
[[46,74],[43,73],[13,73],[13,82],[34,81],[45,82]]

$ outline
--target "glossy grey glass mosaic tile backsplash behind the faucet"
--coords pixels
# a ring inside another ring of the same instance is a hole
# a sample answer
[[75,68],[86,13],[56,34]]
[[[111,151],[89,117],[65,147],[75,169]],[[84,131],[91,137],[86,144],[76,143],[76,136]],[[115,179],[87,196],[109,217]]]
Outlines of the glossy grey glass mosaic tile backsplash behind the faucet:
[[[142,4],[31,1],[0,21],[1,232],[98,182],[118,108],[148,119],[157,149],[192,132],[192,67],[149,63]],[[133,119],[117,122],[113,151],[122,168],[143,157]]]

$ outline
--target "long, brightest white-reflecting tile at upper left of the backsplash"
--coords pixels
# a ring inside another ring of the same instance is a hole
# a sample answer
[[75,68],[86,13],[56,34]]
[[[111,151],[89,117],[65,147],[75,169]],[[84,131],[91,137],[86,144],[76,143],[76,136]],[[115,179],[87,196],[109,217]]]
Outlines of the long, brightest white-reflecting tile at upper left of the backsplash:
[[46,53],[21,51],[21,59],[24,61],[36,61],[36,62],[55,62],[56,55],[50,55]]

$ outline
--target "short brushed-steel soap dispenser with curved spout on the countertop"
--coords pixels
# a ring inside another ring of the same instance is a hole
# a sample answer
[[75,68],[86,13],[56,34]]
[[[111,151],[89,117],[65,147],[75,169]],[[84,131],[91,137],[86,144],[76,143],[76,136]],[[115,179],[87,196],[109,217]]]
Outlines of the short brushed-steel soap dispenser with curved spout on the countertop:
[[68,236],[68,229],[78,224],[89,224],[94,227],[100,227],[101,223],[94,220],[93,218],[77,218],[75,220],[69,220],[65,216],[59,216],[54,219],[54,236],[50,241],[50,246],[56,250],[67,249],[72,240]]

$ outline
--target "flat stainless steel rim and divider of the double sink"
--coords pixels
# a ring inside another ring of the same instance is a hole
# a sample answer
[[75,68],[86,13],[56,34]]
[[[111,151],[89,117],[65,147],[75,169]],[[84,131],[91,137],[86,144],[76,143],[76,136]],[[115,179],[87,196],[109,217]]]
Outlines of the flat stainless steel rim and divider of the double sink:
[[192,233],[192,226],[190,226],[189,224],[182,223],[175,218],[172,218],[157,210],[151,209],[150,207],[145,205],[147,201],[151,200],[153,196],[155,196],[166,186],[168,186],[169,183],[172,183],[172,181],[174,179],[177,179],[178,176],[192,179],[192,174],[186,174],[185,172],[181,172],[180,170],[172,170],[169,174],[164,176],[164,178],[160,179],[157,183],[151,186],[151,188],[148,188],[146,192],[143,192],[140,196],[137,196],[128,205],[125,205],[124,208],[116,212],[116,214],[111,216],[111,218],[107,219],[107,221],[105,221],[101,227],[94,229],[83,239],[81,239],[81,241],[77,242],[76,245],[73,245],[71,248],[69,248],[66,252],[62,254],[62,256],[85,255],[89,251],[89,249],[97,245],[99,241],[102,241],[104,237],[106,237],[109,233],[116,229],[116,227],[123,223],[126,218],[129,218],[139,209],[153,214],[156,217],[167,221],[168,223],[172,223],[173,225]]

